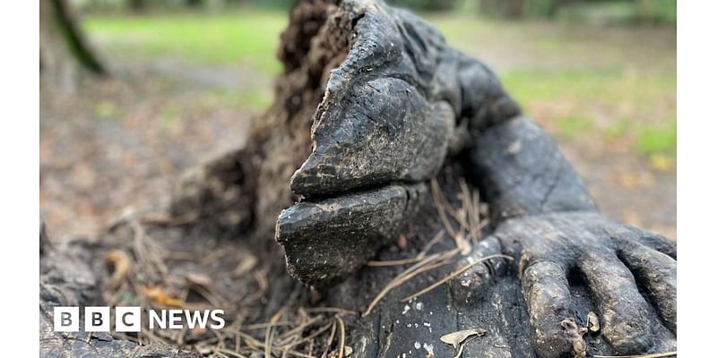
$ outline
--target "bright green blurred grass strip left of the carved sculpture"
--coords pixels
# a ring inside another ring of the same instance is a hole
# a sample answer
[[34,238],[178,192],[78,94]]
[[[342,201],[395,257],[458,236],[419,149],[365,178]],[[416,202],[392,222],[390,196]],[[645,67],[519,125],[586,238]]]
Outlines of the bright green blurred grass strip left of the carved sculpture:
[[276,59],[286,13],[255,9],[237,13],[91,15],[84,26],[111,55],[175,56],[194,64],[247,63],[278,73]]

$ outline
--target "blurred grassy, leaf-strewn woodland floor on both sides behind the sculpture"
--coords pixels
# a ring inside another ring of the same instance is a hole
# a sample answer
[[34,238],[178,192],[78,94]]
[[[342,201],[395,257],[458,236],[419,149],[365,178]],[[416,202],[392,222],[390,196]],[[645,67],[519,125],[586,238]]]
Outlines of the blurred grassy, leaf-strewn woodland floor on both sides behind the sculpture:
[[[40,210],[91,237],[157,207],[179,175],[246,141],[272,99],[284,13],[89,16],[112,79],[40,89]],[[676,31],[428,15],[553,133],[611,217],[676,240]]]

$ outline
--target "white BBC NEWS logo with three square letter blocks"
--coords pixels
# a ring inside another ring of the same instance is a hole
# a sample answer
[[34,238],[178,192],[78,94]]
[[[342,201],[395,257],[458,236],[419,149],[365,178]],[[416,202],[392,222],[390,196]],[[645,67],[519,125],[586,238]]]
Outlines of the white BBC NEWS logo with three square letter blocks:
[[[142,307],[117,306],[115,312],[116,332],[140,332],[143,326]],[[110,307],[88,306],[84,308],[84,331],[109,332],[111,328]],[[224,310],[148,310],[149,329],[224,328]],[[55,307],[53,328],[56,332],[80,331],[80,307]]]

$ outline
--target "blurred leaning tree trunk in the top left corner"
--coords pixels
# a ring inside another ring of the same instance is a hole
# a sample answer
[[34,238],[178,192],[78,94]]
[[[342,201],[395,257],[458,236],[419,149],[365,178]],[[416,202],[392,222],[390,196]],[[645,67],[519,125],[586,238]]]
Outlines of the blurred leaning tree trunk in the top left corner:
[[40,0],[39,24],[41,81],[73,91],[80,72],[108,73],[91,50],[67,1]]

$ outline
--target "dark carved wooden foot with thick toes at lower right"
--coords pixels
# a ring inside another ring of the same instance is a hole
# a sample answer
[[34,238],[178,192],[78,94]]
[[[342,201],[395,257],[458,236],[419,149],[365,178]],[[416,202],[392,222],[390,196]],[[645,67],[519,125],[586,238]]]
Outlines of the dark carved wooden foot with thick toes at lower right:
[[[585,356],[601,340],[617,354],[677,349],[677,248],[664,237],[596,213],[516,217],[463,260],[499,251],[514,257],[540,357]],[[505,272],[497,260],[457,277],[454,295],[477,299]],[[579,294],[584,287],[592,300]]]

